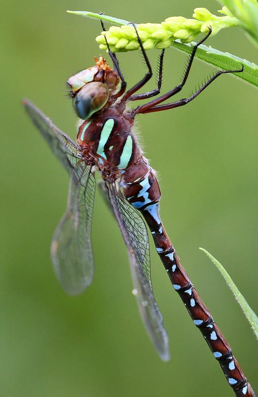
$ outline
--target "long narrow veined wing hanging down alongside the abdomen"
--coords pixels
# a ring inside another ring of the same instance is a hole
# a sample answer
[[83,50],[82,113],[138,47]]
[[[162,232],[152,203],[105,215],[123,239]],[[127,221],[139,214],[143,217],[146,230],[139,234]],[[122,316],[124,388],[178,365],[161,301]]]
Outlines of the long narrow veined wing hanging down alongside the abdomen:
[[167,361],[170,358],[168,337],[152,289],[146,225],[139,212],[126,202],[115,184],[108,184],[107,187],[116,220],[127,246],[134,294],[140,314],[160,358]]

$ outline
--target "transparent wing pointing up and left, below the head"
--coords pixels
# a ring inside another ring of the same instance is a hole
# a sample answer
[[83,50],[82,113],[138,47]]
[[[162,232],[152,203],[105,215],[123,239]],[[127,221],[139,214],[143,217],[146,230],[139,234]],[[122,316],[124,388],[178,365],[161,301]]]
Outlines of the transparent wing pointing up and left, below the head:
[[56,157],[61,161],[66,170],[71,173],[78,159],[82,157],[77,144],[68,135],[59,130],[52,121],[28,99],[23,99],[23,104],[29,117],[49,143]]

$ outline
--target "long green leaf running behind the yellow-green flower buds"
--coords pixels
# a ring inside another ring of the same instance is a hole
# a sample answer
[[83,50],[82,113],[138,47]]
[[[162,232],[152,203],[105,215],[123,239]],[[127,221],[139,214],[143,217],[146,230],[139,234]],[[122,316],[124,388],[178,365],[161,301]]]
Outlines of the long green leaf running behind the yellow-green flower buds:
[[[118,19],[112,16],[97,14],[90,11],[67,11],[67,12],[90,18],[103,19],[106,22],[114,23],[119,26],[127,25],[129,23],[129,21],[126,21],[124,19]],[[175,40],[172,42],[171,45],[172,47],[175,47],[179,51],[190,53],[192,50],[192,46],[195,44],[196,44],[195,42],[183,44],[180,43],[179,40]],[[222,51],[216,50],[211,47],[207,47],[205,45],[201,45],[198,48],[196,52],[196,58],[206,62],[209,65],[219,67],[223,70],[240,69],[243,64],[244,71],[242,73],[233,73],[233,74],[235,74],[236,77],[258,87],[258,66],[254,63],[238,58],[235,55],[229,53],[223,53]]]

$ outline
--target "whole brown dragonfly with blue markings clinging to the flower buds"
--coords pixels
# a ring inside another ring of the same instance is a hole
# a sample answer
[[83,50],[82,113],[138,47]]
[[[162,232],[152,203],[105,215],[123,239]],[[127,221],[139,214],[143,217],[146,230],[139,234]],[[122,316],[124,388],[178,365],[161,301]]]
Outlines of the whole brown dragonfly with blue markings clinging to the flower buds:
[[[174,290],[205,337],[235,396],[255,396],[230,345],[181,265],[165,231],[159,214],[161,193],[155,171],[144,157],[132,130],[138,114],[187,105],[221,74],[242,72],[243,67],[238,70],[219,70],[189,98],[164,104],[165,100],[183,88],[197,48],[210,35],[211,29],[193,46],[180,84],[159,96],[164,50],[159,56],[156,88],[137,93],[151,79],[153,72],[137,28],[133,26],[148,70],[132,88],[127,90],[118,60],[108,44],[113,68],[101,56],[99,60],[95,58],[94,66],[67,80],[72,105],[79,117],[76,142],[59,130],[33,103],[23,100],[32,122],[70,174],[67,208],[52,239],[54,271],[64,290],[71,295],[82,293],[92,283],[94,258],[91,230],[97,170],[102,176],[104,194],[127,247],[133,292],[141,317],[161,359],[167,361],[170,353],[167,332],[153,293],[147,226]],[[155,99],[135,108],[129,109],[127,106],[129,102],[155,96]]]

